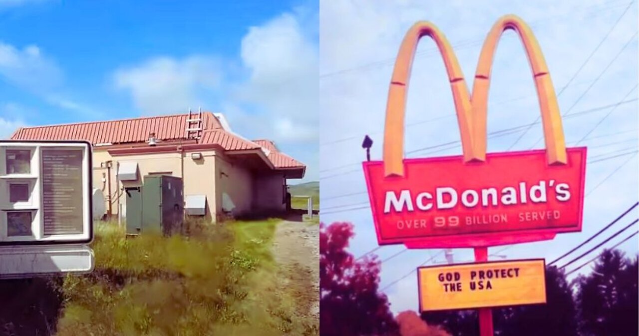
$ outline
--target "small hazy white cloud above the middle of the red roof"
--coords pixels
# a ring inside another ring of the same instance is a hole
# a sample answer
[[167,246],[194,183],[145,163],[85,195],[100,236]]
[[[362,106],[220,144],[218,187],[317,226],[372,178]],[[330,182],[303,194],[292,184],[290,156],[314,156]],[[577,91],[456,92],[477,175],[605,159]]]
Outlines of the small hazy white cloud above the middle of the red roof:
[[197,107],[201,104],[197,91],[217,88],[221,74],[215,57],[155,57],[117,70],[114,83],[116,88],[130,93],[144,114],[167,114]]

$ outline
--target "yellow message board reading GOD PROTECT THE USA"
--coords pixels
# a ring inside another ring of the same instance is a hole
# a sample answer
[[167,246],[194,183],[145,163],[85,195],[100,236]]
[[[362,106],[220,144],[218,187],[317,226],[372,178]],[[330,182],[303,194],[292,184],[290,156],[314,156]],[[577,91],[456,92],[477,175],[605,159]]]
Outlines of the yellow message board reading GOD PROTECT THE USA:
[[527,259],[420,267],[419,310],[546,303],[545,266]]

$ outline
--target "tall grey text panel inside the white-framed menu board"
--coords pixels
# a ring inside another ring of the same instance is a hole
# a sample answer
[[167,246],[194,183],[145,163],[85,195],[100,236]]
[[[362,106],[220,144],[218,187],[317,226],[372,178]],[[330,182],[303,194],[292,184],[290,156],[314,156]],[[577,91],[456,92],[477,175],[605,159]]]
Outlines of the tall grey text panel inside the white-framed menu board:
[[82,149],[42,148],[44,234],[82,233]]

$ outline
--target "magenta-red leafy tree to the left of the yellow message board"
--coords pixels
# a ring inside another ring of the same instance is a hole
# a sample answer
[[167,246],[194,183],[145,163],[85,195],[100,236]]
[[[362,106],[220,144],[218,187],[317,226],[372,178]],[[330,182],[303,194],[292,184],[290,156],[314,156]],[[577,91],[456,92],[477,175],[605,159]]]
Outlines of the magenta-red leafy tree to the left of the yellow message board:
[[322,336],[396,336],[385,294],[378,293],[380,262],[346,252],[353,225],[319,225],[319,333]]

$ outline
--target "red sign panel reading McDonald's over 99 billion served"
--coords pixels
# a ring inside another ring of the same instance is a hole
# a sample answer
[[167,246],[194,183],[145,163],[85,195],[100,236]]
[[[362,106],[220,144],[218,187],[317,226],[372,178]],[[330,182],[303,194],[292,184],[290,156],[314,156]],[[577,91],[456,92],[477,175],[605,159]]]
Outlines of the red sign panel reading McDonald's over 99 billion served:
[[581,231],[586,148],[548,165],[545,150],[404,160],[403,177],[364,162],[378,243],[476,247]]

